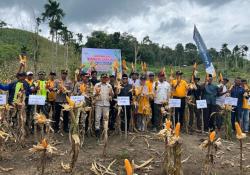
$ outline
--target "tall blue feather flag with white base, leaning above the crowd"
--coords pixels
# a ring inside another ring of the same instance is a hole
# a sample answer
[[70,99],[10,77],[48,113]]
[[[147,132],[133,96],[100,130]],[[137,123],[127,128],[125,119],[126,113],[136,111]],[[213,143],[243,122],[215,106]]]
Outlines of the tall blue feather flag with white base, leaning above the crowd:
[[201,59],[203,61],[203,63],[206,66],[206,73],[213,75],[213,77],[216,76],[216,72],[213,66],[213,63],[211,61],[211,57],[208,54],[208,50],[207,47],[198,31],[198,29],[196,28],[196,26],[194,26],[194,36],[193,39],[198,47]]

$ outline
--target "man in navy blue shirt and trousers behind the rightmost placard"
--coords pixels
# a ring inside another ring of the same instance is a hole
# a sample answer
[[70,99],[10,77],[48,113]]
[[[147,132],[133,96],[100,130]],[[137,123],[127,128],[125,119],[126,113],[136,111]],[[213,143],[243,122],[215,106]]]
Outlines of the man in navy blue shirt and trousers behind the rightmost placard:
[[241,85],[241,78],[237,77],[234,80],[234,85],[229,89],[231,97],[237,98],[237,106],[233,106],[233,112],[231,112],[231,122],[233,130],[235,130],[234,123],[237,121],[242,124],[242,103],[243,103],[243,94],[245,93],[244,88]]

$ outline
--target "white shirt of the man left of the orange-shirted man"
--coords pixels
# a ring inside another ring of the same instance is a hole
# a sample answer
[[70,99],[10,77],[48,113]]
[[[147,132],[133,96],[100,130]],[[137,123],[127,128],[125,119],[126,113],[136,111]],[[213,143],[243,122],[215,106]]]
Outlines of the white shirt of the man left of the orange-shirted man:
[[171,86],[167,81],[158,81],[157,83],[157,87],[155,87],[156,82],[153,83],[153,92],[155,94],[154,103],[162,104],[168,101],[169,94],[171,92]]

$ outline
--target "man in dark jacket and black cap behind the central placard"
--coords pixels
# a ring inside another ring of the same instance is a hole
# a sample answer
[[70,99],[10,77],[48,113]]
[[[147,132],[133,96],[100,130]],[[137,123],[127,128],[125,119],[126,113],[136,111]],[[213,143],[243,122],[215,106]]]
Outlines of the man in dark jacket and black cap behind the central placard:
[[[125,96],[125,97],[129,97],[130,101],[132,100],[132,85],[128,83],[128,75],[127,74],[123,74],[122,75],[122,88],[120,89],[120,92],[117,94],[118,96]],[[122,110],[125,111],[124,106],[122,107]],[[127,129],[129,130],[129,123],[130,123],[130,119],[131,119],[131,107],[130,106],[126,106],[126,114],[127,114]],[[121,130],[125,131],[125,113],[122,112],[121,113]]]

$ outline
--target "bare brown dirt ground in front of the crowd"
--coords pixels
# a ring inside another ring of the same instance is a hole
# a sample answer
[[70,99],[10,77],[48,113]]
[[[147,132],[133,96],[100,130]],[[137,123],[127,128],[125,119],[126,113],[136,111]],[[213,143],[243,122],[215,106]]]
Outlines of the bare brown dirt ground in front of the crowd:
[[[140,137],[140,135],[146,135]],[[130,140],[134,136],[136,137],[132,143]],[[186,175],[195,175],[201,173],[202,162],[205,158],[205,152],[200,150],[198,147],[202,139],[205,139],[205,135],[194,133],[192,135],[182,134],[182,160],[190,156],[190,158],[183,163],[183,173]],[[145,139],[148,141],[150,147],[148,148]],[[250,139],[244,140],[244,166],[245,174],[250,174]],[[30,137],[25,143],[24,148],[16,148],[8,143],[4,150],[1,152],[0,164],[4,168],[14,168],[12,171],[6,173],[1,172],[0,174],[10,175],[35,175],[37,172],[37,165],[40,163],[38,155],[32,155],[28,150],[33,145],[33,138]],[[68,135],[56,134],[53,136],[52,144],[55,144],[58,149],[57,153],[49,156],[47,161],[47,167],[45,174],[47,175],[64,175],[65,173],[61,168],[61,162],[69,163],[70,156],[70,144]],[[116,162],[112,165],[111,169],[116,174],[125,174],[123,168],[124,159],[134,160],[135,163],[141,164],[150,158],[154,158],[149,164],[153,169],[148,171],[146,169],[136,171],[135,173],[159,175],[161,174],[161,164],[164,152],[164,143],[155,139],[153,133],[139,133],[129,134],[127,140],[124,136],[111,135],[109,137],[108,155],[102,156],[103,145],[96,143],[94,137],[86,138],[84,148],[81,148],[76,168],[73,174],[75,175],[88,175],[93,174],[90,171],[91,164],[94,160],[105,165],[106,167],[116,159]],[[233,142],[222,141],[222,148],[217,151],[215,157],[214,171],[216,174],[227,174],[234,175],[239,174],[239,143],[237,140]],[[229,161],[226,161],[229,160]]]

